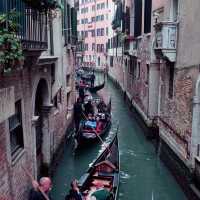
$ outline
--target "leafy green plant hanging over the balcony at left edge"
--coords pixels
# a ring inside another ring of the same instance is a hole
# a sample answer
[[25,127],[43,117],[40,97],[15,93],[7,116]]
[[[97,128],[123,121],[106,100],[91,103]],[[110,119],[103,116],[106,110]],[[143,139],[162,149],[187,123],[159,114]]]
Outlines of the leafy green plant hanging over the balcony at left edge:
[[0,66],[4,72],[21,67],[24,60],[21,42],[17,37],[17,16],[15,11],[0,15]]

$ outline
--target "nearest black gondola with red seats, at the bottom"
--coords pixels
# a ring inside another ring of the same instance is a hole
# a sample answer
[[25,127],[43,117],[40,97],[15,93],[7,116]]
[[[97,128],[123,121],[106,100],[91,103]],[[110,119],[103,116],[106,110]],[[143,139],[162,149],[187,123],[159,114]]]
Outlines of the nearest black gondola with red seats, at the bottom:
[[79,179],[79,188],[85,199],[95,196],[96,199],[116,200],[119,188],[120,158],[118,137],[115,135],[97,160]]

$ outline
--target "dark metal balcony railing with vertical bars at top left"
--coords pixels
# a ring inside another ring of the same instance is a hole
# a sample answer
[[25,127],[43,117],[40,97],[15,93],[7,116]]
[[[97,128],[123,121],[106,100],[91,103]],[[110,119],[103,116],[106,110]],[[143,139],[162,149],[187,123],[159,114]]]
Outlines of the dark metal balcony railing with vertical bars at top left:
[[15,10],[19,13],[16,33],[22,42],[23,49],[45,50],[47,48],[47,14],[28,7],[22,0],[1,0],[0,14]]

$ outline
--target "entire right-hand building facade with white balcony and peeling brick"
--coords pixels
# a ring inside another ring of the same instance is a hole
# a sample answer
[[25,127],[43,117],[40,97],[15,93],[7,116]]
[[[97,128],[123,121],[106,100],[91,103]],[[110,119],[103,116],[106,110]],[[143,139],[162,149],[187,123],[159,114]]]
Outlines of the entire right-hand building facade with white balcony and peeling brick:
[[[109,76],[146,125],[157,127],[151,137],[158,138],[160,157],[189,199],[198,199],[200,46],[195,21],[200,17],[199,1],[121,3],[124,14],[114,19],[113,29],[121,37],[122,55],[113,44],[109,46],[115,52],[108,57]],[[120,7],[120,1],[115,4]]]

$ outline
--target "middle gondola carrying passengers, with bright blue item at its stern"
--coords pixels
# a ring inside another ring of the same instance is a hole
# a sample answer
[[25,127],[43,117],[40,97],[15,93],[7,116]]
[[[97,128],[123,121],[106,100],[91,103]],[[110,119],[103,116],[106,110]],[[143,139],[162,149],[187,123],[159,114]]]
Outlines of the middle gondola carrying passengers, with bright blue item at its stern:
[[79,147],[98,140],[98,137],[109,131],[111,126],[111,101],[105,107],[105,109],[95,114],[94,120],[84,119],[82,121],[77,137]]

